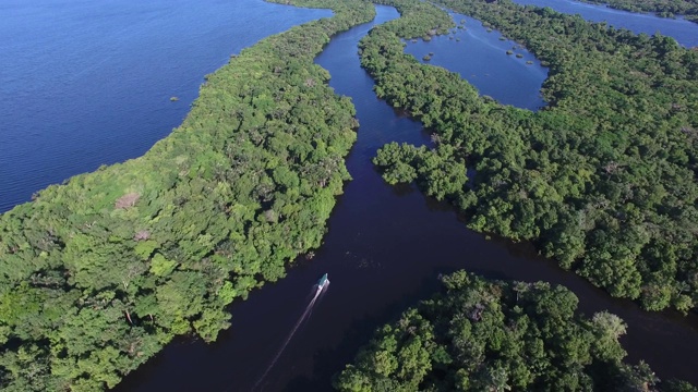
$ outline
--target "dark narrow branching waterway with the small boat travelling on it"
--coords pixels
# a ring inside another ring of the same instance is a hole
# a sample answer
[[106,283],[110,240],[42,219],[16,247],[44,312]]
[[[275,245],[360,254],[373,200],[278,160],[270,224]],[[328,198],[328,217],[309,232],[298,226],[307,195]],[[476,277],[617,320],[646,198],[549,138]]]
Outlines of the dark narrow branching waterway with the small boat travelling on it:
[[[359,39],[373,25],[398,16],[392,8],[377,7],[377,11],[373,23],[337,35],[316,59],[332,74],[335,90],[352,97],[361,123],[347,161],[353,181],[333,212],[324,245],[312,260],[298,260],[287,278],[233,304],[232,327],[215,344],[170,344],[118,389],[251,390],[303,314],[313,284],[328,273],[329,290],[258,390],[329,390],[332,375],[352,359],[376,327],[438,290],[440,273],[457,269],[489,278],[563,284],[577,294],[581,311],[607,309],[626,320],[629,327],[623,343],[631,362],[646,359],[661,378],[698,382],[696,318],[649,314],[630,302],[613,299],[537,256],[530,246],[486,240],[467,230],[450,207],[411,186],[383,182],[370,161],[377,148],[392,140],[426,144],[430,137],[420,123],[376,99],[373,81],[360,68]],[[464,57],[462,61],[478,59]]]

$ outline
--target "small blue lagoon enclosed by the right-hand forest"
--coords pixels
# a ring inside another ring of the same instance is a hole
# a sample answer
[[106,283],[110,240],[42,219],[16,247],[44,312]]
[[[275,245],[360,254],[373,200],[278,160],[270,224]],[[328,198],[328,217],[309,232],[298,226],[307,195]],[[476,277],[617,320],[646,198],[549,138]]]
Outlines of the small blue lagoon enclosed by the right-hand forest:
[[[456,24],[465,20],[465,28],[454,28],[448,35],[433,37],[431,41],[408,41],[405,52],[422,63],[457,72],[481,95],[501,103],[530,110],[545,106],[540,90],[547,77],[547,69],[541,66],[532,53],[512,40],[501,40],[500,32],[488,32],[478,20],[458,13],[450,14]],[[514,53],[506,54],[507,50]],[[424,61],[422,58],[430,52],[434,56],[430,61]],[[519,53],[524,56],[520,59],[516,57]],[[527,64],[527,61],[531,64]]]

